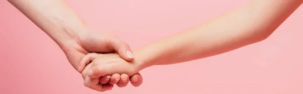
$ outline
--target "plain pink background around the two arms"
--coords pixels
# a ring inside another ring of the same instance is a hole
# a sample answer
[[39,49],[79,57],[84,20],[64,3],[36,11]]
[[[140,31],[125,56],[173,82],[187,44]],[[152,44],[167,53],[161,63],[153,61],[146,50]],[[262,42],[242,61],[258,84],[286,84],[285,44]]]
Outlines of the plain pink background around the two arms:
[[[84,22],[136,48],[203,23],[247,0],[69,0]],[[143,84],[97,92],[83,85],[59,46],[0,1],[0,93],[303,93],[303,7],[268,39],[190,63],[144,69]],[[218,27],[220,28],[220,27]],[[185,75],[184,75],[185,74]]]

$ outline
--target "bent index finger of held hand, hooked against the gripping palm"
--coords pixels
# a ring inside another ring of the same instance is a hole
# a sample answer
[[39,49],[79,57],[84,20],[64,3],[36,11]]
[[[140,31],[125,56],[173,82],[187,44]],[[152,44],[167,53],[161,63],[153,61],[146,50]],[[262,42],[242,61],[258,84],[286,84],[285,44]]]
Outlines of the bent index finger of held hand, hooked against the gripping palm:
[[87,64],[89,64],[90,61],[93,61],[96,57],[97,57],[96,53],[89,53],[89,54],[85,55],[79,63],[78,72],[81,73],[83,71],[83,69],[85,68],[85,66]]

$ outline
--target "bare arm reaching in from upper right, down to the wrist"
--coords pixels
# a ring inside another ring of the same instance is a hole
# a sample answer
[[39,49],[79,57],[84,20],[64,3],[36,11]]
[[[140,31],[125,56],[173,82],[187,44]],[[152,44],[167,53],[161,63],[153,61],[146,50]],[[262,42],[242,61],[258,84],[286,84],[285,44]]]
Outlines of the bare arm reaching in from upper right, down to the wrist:
[[204,24],[134,51],[143,69],[229,52],[266,39],[300,5],[298,0],[255,0]]

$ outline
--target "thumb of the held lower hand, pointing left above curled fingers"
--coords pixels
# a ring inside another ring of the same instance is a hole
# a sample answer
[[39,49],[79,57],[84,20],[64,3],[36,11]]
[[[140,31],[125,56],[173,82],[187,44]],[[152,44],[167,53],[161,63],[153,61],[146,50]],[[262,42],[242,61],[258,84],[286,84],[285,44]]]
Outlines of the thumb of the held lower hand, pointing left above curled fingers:
[[112,64],[96,66],[96,67],[91,68],[88,71],[87,76],[90,78],[99,78],[99,77],[105,76],[105,75],[112,75],[112,74],[116,73],[116,71],[113,71],[112,69],[113,69]]

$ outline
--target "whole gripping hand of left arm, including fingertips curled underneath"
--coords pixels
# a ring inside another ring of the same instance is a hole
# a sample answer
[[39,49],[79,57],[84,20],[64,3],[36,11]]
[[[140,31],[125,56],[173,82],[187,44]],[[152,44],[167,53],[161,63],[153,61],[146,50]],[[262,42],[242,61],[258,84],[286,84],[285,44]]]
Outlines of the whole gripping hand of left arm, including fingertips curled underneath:
[[[92,31],[90,29],[88,29],[86,32],[87,33],[84,33],[82,35],[79,34],[74,36],[75,38],[72,38],[72,40],[67,41],[67,44],[65,44],[69,46],[65,46],[62,48],[70,63],[80,73],[84,68],[89,67],[90,61],[94,59],[94,57],[91,57],[93,56],[93,54],[89,54],[91,52],[118,52],[119,54],[117,55],[120,59],[122,59],[121,57],[124,57],[122,60],[133,60],[132,55],[128,55],[130,52],[129,45],[124,41],[120,40],[118,37],[109,33]],[[129,56],[131,58],[129,58]],[[124,87],[127,85],[128,81],[130,81],[133,86],[139,86],[143,80],[142,76],[139,73],[131,75],[131,79],[129,79],[129,75],[127,74],[104,75],[100,78],[97,77],[93,79],[88,79],[86,76],[83,75],[83,73],[85,72],[82,72],[82,76],[84,78],[84,85],[97,91],[110,90],[113,84],[117,84],[119,87]],[[116,79],[119,79],[119,81],[117,81]],[[125,80],[127,80],[127,82],[125,82]]]

